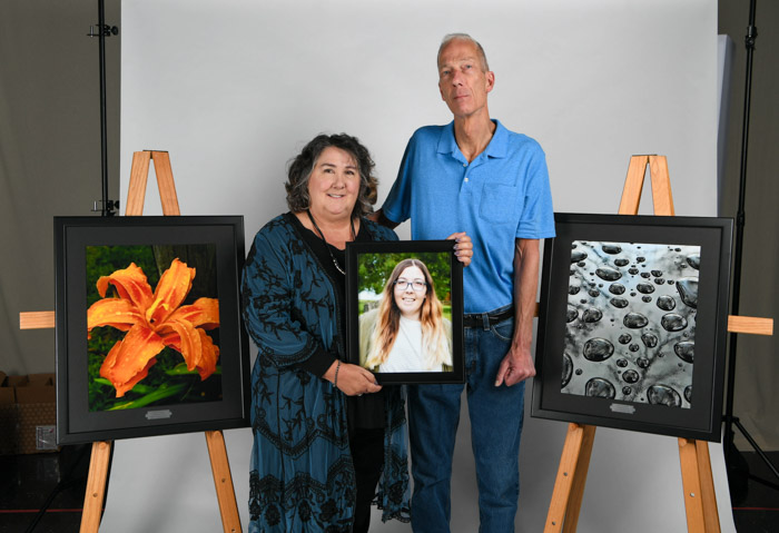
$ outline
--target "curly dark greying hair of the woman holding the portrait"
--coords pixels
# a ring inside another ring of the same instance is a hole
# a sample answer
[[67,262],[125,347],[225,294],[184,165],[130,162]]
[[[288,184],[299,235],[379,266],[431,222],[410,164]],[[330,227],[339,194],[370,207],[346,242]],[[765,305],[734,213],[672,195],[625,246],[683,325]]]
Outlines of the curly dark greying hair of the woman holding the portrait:
[[373,175],[375,164],[368,149],[359,144],[356,137],[346,134],[318,135],[308,142],[300,154],[289,162],[287,170],[287,206],[293,213],[307,209],[310,205],[308,196],[308,178],[319,155],[328,147],[341,148],[354,157],[359,169],[359,194],[352,210],[352,217],[362,217],[373,211],[376,204],[378,180]]

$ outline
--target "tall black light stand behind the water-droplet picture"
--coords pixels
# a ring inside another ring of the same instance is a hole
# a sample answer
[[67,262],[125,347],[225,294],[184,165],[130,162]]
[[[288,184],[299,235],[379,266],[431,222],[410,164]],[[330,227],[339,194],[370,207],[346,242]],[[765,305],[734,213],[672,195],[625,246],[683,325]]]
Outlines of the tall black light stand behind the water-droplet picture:
[[[739,315],[739,299],[741,295],[741,260],[743,256],[743,226],[745,226],[745,197],[747,189],[747,148],[749,146],[749,111],[750,99],[752,91],[752,55],[755,51],[755,40],[758,37],[758,29],[755,26],[755,6],[756,0],[750,1],[749,7],[749,26],[747,27],[747,36],[745,46],[747,48],[747,73],[746,88],[743,97],[743,126],[741,130],[741,171],[739,181],[739,206],[736,216],[736,256],[733,261],[733,294],[730,314]],[[731,499],[739,501],[743,499],[747,492],[747,478],[752,478],[759,483],[779,490],[779,485],[761,480],[749,474],[747,462],[733,444],[733,425],[738,427],[741,434],[747,438],[749,444],[755,448],[760,458],[773,472],[773,475],[779,478],[779,471],[771,463],[766,453],[760,450],[758,443],[752,438],[746,427],[741,425],[738,417],[733,416],[733,389],[736,387],[736,348],[738,335],[730,334],[730,352],[728,357],[728,383],[727,383],[727,403],[724,413],[724,460],[728,466],[728,481],[730,484]]]

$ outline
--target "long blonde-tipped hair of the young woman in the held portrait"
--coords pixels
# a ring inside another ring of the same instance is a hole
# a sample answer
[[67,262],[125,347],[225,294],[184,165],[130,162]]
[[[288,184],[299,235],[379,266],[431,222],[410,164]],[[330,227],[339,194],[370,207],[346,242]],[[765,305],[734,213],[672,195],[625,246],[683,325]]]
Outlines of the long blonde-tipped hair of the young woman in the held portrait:
[[395,345],[397,333],[401,327],[401,309],[395,303],[395,282],[401,277],[403,270],[410,266],[415,266],[425,276],[427,290],[425,299],[420,308],[420,322],[422,323],[422,354],[426,368],[434,368],[438,365],[452,365],[452,353],[450,339],[444,328],[443,309],[444,306],[435,295],[435,284],[424,263],[418,259],[403,259],[393,268],[389,279],[382,290],[382,300],[378,305],[378,317],[376,326],[371,333],[371,349],[367,354],[366,366],[368,368],[378,367],[387,361],[389,352]]

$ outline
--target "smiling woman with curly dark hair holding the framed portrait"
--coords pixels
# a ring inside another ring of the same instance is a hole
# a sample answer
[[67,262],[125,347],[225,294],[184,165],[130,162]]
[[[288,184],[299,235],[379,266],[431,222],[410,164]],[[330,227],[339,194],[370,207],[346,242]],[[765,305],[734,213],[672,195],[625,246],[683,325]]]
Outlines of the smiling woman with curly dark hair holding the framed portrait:
[[[288,169],[290,213],[249,250],[244,316],[259,348],[250,532],[364,532],[374,496],[383,520],[408,520],[401,391],[343,362],[346,243],[397,239],[364,218],[376,200],[373,167],[354,137],[313,139]],[[452,237],[470,260],[470,239]]]

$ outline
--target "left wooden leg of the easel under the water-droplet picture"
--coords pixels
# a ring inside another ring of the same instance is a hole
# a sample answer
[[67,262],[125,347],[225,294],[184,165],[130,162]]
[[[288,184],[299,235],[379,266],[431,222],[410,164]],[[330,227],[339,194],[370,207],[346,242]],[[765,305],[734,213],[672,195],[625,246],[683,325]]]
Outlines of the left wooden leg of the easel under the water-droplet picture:
[[595,426],[569,424],[544,533],[576,531]]

